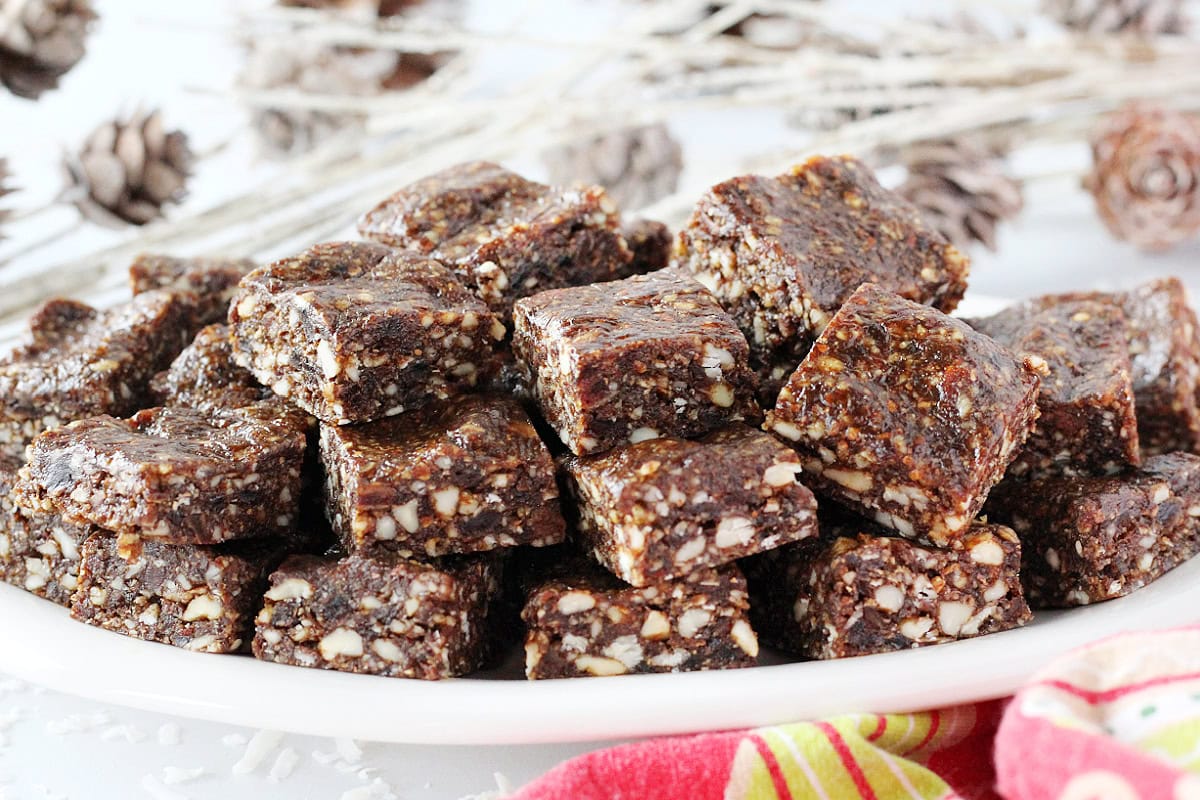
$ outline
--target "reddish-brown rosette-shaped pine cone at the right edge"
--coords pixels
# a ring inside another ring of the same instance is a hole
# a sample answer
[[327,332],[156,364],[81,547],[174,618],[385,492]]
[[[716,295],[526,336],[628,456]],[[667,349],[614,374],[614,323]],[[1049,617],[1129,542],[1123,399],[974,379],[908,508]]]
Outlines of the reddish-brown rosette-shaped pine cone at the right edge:
[[1162,251],[1200,234],[1200,121],[1134,104],[1092,134],[1084,186],[1117,239]]

